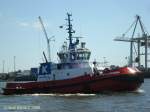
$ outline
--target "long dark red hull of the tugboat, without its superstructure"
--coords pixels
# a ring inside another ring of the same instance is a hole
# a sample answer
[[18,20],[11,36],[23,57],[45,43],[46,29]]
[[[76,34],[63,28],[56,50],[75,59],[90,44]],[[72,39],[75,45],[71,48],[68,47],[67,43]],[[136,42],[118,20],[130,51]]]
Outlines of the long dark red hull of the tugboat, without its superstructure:
[[72,79],[7,83],[4,94],[33,93],[100,93],[103,91],[134,91],[140,87],[144,78],[141,73],[85,75]]

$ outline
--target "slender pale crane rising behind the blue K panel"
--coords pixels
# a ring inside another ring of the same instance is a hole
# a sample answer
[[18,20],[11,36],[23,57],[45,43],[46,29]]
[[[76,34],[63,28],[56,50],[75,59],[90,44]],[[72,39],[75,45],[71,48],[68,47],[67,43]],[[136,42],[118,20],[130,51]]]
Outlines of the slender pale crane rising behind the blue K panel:
[[[51,51],[50,51],[50,41],[54,41],[52,40],[54,36],[48,38],[48,35],[47,35],[47,32],[46,32],[46,29],[44,27],[44,24],[43,24],[43,21],[42,21],[42,18],[39,16],[39,22],[41,24],[41,27],[43,29],[43,32],[44,32],[44,35],[46,37],[46,41],[47,41],[47,53],[48,53],[48,61],[51,62]],[[46,56],[44,56],[46,57]]]

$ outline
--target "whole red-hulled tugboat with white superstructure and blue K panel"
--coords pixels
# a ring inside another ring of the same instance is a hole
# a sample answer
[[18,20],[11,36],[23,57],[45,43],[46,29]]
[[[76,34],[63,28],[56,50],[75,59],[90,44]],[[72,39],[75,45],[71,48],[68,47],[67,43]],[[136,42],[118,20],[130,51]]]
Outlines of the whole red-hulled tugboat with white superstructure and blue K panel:
[[41,63],[37,81],[7,82],[4,95],[34,93],[101,93],[134,91],[144,82],[136,68],[109,67],[99,70],[97,62],[89,62],[91,51],[79,37],[73,37],[71,14],[67,13],[68,40],[57,53],[60,62]]

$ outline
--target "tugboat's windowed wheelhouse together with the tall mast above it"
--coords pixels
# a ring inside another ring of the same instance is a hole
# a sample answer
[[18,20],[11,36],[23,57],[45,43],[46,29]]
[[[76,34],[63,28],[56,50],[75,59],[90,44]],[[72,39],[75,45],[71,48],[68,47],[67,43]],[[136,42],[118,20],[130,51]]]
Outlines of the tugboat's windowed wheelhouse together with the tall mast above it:
[[[83,38],[83,37],[74,37],[73,33],[75,33],[75,31],[72,28],[72,19],[71,19],[72,14],[67,13],[67,33],[68,33],[68,38],[67,40],[69,41],[69,45],[67,47],[67,45],[63,45],[62,46],[62,50],[60,52],[58,52],[58,56],[60,58],[60,61],[62,63],[71,63],[71,62],[75,62],[76,60],[89,60],[90,58],[90,54],[91,52],[85,48],[85,42],[81,43],[81,46],[78,46],[80,41],[79,38]],[[60,28],[63,28],[63,26],[60,26]],[[80,48],[81,49],[80,49]]]

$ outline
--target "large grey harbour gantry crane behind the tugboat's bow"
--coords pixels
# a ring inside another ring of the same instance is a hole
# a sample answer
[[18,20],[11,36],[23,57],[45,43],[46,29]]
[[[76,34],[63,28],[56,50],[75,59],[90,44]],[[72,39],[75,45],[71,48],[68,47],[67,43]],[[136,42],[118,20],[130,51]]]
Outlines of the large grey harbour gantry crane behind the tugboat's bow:
[[[136,31],[138,23],[139,23],[139,26],[140,26],[140,29],[141,29],[141,32],[142,32],[142,36],[134,38],[135,31]],[[134,28],[133,28],[131,38],[125,37],[126,33],[128,33],[131,30],[132,27],[134,27]],[[137,57],[135,59],[135,62],[138,63],[138,67],[141,66],[140,55],[142,55],[142,54],[141,54],[141,51],[140,51],[140,47],[144,46],[144,49],[145,49],[145,51],[144,51],[145,70],[148,69],[148,66],[147,66],[148,65],[148,46],[150,45],[150,36],[149,36],[148,32],[146,31],[146,29],[144,28],[144,25],[143,25],[139,15],[136,15],[136,20],[133,22],[133,24],[130,26],[130,28],[121,37],[117,37],[114,40],[115,41],[130,42],[130,62],[129,62],[129,66],[133,66],[133,63],[134,63],[134,61],[133,61],[133,49],[135,50],[135,53],[137,55]],[[135,44],[137,44],[137,50],[136,50]]]

